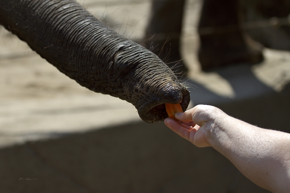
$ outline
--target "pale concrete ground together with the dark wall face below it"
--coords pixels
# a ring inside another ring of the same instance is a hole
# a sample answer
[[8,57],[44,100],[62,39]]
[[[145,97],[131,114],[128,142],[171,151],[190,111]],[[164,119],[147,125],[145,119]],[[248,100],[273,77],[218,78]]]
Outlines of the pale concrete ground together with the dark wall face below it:
[[[151,1],[79,2],[142,41]],[[190,108],[212,104],[289,132],[290,52],[265,49],[260,64],[202,72],[196,57],[201,2],[187,1],[183,22]],[[143,123],[126,101],[81,87],[3,27],[0,90],[1,192],[267,192],[212,148],[196,148],[163,123]]]

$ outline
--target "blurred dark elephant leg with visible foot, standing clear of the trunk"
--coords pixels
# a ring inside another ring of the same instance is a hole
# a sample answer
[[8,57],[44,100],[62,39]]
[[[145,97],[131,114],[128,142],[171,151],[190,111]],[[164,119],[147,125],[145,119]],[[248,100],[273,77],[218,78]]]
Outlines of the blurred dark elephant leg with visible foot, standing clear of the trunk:
[[238,0],[204,0],[199,22],[199,61],[203,70],[232,63],[258,63],[262,46],[239,26]]

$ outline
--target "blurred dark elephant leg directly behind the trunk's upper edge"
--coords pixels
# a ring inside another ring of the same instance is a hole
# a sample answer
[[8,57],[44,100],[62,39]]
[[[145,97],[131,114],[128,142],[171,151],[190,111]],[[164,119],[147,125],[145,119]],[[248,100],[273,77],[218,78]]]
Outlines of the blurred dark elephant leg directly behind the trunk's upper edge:
[[184,0],[153,0],[146,30],[146,47],[153,50],[172,70],[184,74],[187,68],[179,53]]

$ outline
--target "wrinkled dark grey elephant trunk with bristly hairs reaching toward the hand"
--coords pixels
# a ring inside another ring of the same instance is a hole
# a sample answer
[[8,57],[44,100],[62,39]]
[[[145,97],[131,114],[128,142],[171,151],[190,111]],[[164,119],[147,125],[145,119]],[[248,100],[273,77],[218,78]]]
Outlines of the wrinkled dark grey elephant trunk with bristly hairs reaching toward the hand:
[[188,90],[155,54],[74,0],[1,0],[0,24],[80,85],[132,103],[148,123],[168,117],[164,103],[189,104]]

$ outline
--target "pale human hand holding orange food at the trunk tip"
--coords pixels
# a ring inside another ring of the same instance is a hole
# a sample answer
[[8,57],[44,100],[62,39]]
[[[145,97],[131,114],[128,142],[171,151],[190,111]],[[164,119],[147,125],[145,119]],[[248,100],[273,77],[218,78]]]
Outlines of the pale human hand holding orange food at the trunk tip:
[[211,125],[218,111],[221,110],[213,106],[197,105],[184,113],[176,113],[175,118],[180,121],[167,118],[164,123],[197,147],[212,146],[210,143]]

